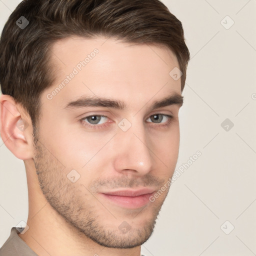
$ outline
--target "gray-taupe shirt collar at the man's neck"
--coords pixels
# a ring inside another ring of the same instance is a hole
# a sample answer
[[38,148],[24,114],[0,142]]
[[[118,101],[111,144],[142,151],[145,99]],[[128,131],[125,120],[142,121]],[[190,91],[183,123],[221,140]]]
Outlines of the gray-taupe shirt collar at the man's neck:
[[[22,232],[22,229],[20,229]],[[13,226],[9,238],[0,248],[0,256],[38,256],[19,236],[19,231]],[[143,255],[141,255],[143,256]]]

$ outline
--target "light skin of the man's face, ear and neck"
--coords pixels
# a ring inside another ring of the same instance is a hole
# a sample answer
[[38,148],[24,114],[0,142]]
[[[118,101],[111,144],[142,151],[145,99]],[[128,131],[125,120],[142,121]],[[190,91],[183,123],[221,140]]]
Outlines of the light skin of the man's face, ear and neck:
[[[47,94],[94,48],[99,50],[95,57],[48,99]],[[180,105],[153,110],[150,106],[166,95],[181,94],[180,79],[169,75],[178,61],[163,46],[104,37],[73,36],[55,42],[51,50],[58,73],[40,96],[36,137],[24,109],[8,95],[0,97],[2,140],[24,160],[26,169],[29,228],[18,235],[39,256],[138,256],[168,189],[154,202],[132,209],[103,198],[100,192],[140,187],[157,191],[172,176],[178,157]],[[64,109],[81,95],[122,100],[127,108]],[[152,117],[157,113],[163,114],[160,123]],[[79,121],[93,114],[107,118],[101,117],[99,124],[88,118]],[[164,114],[173,116],[168,126],[163,126],[168,123]],[[24,130],[16,127],[20,118]],[[126,131],[117,125],[123,118],[131,124]],[[80,175],[75,182],[67,178],[72,169]],[[120,224],[129,230],[122,232]]]

